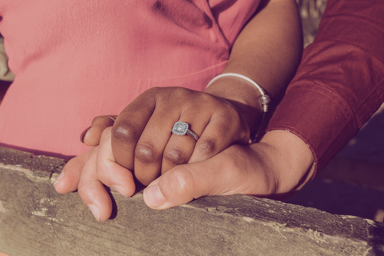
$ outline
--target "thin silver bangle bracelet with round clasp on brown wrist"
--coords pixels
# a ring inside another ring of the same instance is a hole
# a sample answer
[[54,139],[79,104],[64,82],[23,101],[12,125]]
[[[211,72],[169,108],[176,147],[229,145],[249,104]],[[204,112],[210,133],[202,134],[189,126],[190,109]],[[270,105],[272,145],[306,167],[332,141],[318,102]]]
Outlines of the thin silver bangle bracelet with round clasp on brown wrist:
[[260,128],[259,128],[257,134],[255,135],[254,138],[251,138],[252,142],[256,142],[257,139],[258,139],[258,136],[260,134],[260,131],[261,131],[262,127],[263,127],[265,116],[266,116],[266,112],[268,112],[268,104],[270,104],[270,102],[271,102],[271,97],[268,94],[265,93],[264,89],[258,83],[256,83],[252,79],[248,78],[247,76],[243,76],[242,74],[237,74],[237,73],[223,73],[223,74],[219,74],[218,76],[215,76],[208,83],[206,88],[208,88],[208,86],[210,86],[212,83],[214,83],[214,81],[216,81],[217,79],[225,77],[225,76],[235,76],[235,77],[238,77],[238,78],[241,78],[241,79],[244,79],[244,80],[248,81],[249,83],[253,84],[258,89],[260,94],[262,95],[260,97],[260,102],[261,102],[261,104],[263,106],[262,121],[260,122]]

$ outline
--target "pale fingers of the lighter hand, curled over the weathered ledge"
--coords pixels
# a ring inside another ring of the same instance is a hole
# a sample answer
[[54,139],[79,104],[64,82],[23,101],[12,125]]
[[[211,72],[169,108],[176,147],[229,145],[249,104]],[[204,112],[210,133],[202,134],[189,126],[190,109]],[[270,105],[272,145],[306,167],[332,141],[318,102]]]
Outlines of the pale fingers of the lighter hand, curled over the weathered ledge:
[[[104,117],[98,119],[103,121]],[[108,122],[106,118],[105,120]],[[69,193],[77,189],[96,220],[105,221],[111,216],[112,201],[104,185],[114,188],[124,197],[133,195],[136,187],[132,172],[116,164],[114,160],[111,127],[103,131],[99,142],[89,152],[69,160],[53,185],[59,193]],[[119,177],[118,180],[115,176]]]

